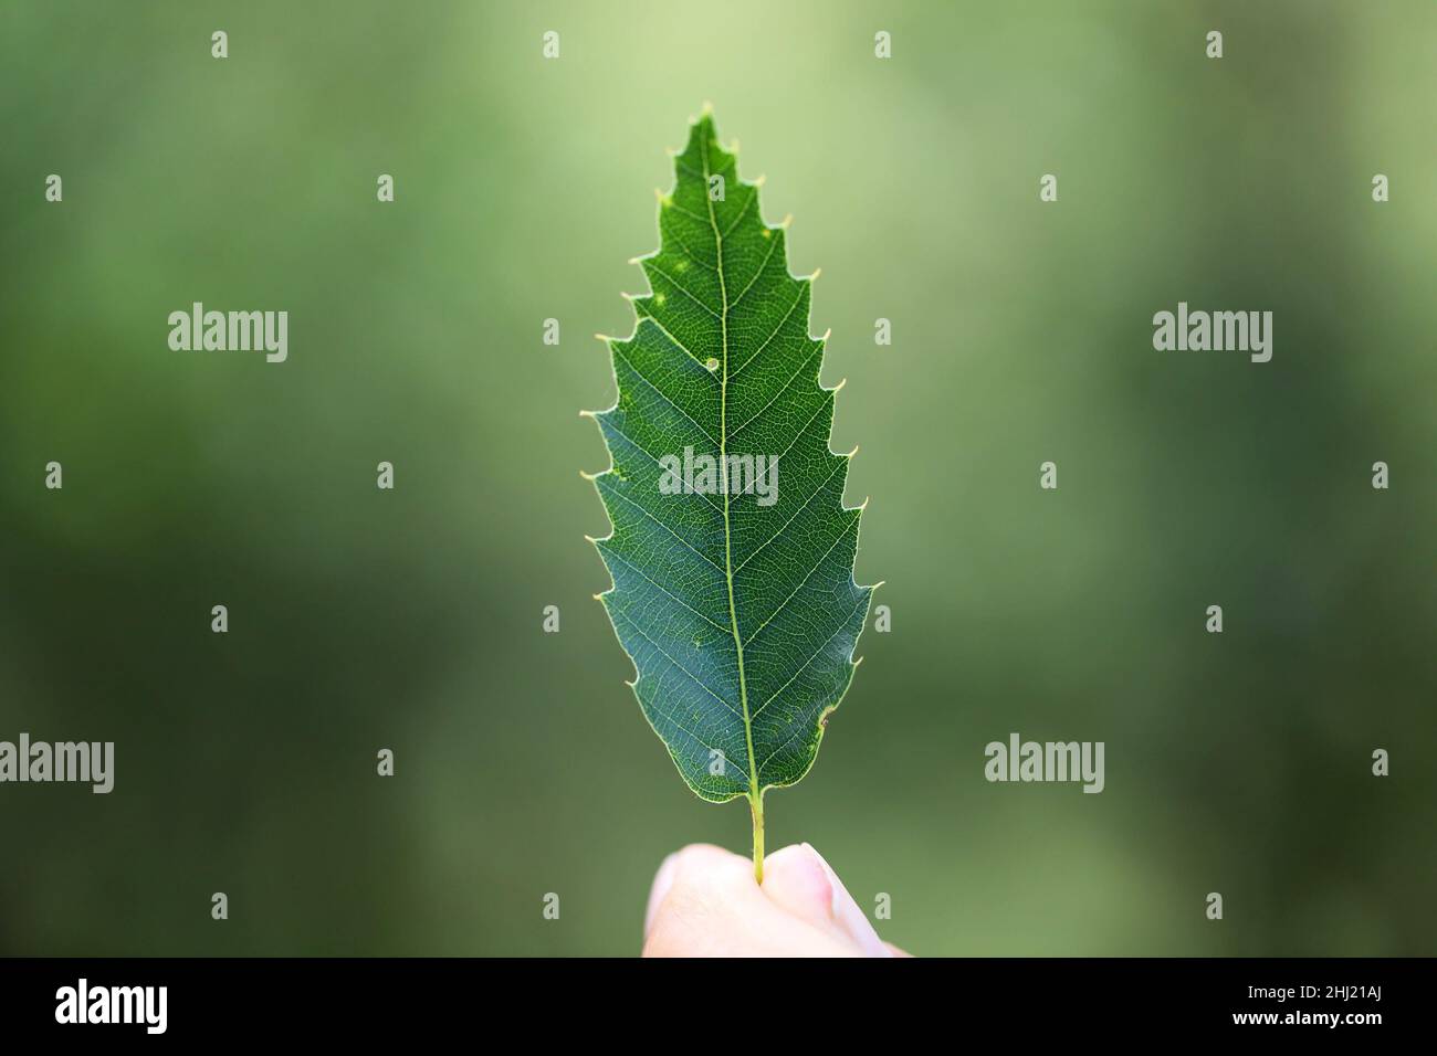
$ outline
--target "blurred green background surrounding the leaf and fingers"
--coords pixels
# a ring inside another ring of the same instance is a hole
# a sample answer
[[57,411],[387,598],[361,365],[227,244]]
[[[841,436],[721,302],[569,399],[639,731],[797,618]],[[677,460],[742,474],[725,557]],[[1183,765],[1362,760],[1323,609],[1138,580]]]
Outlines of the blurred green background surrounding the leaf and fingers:
[[[918,954],[1437,953],[1434,42],[1427,0],[6,4],[0,738],[114,740],[116,787],[0,786],[0,951],[629,954],[665,853],[747,853],[624,685],[579,477],[710,99],[823,269],[892,609],[770,846]],[[194,300],[289,310],[289,362],[171,352]],[[1273,310],[1273,361],[1155,352],[1178,300]],[[1106,790],[986,783],[1009,731],[1104,740]]]

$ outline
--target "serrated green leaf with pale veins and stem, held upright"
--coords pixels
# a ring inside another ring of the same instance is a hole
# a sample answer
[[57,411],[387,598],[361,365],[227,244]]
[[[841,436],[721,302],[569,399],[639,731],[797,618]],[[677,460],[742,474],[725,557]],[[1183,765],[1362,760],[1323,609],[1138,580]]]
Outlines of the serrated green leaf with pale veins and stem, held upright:
[[707,109],[674,174],[661,247],[638,261],[651,293],[631,299],[634,336],[605,338],[618,401],[586,412],[612,460],[593,477],[614,524],[595,540],[614,578],[599,598],[688,787],[749,799],[762,879],[763,793],[813,766],[874,588],[854,582],[852,455],[828,447],[818,274],[789,274],[786,224],[763,223]]

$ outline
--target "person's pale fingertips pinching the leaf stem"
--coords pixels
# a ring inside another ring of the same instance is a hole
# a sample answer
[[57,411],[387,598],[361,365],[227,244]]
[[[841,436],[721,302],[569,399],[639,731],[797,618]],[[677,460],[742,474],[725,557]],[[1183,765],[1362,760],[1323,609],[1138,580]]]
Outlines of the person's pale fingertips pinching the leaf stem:
[[808,843],[753,862],[710,843],[664,859],[644,917],[645,957],[908,957],[868,922]]

